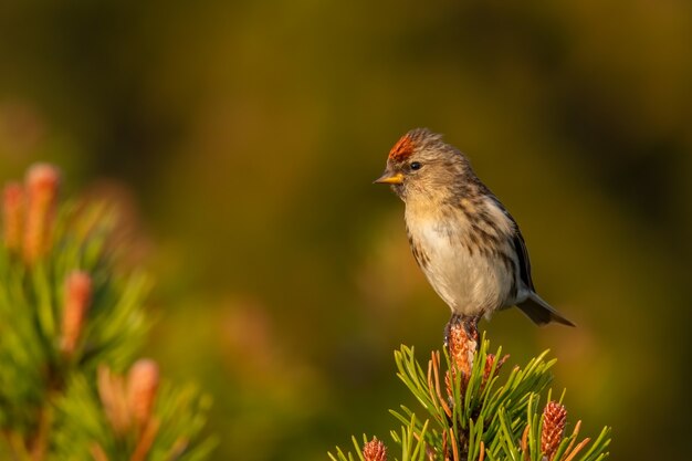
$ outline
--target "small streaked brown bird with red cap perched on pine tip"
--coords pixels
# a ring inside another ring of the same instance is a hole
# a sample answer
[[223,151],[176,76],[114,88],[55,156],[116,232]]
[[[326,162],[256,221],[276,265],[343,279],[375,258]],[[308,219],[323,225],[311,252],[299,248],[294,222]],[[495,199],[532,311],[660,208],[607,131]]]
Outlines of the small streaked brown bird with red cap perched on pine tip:
[[516,305],[538,325],[574,326],[536,294],[514,218],[441,135],[407,133],[375,182],[391,185],[406,203],[413,258],[453,316],[478,322]]

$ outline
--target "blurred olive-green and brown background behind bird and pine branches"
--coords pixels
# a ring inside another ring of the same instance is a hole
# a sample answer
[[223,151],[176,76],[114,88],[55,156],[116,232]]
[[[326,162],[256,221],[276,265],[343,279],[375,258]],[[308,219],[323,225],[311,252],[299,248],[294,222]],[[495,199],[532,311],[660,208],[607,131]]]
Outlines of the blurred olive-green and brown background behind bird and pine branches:
[[[692,3],[3,1],[0,179],[57,164],[122,203],[157,280],[146,355],[214,398],[214,460],[324,460],[388,438],[392,349],[441,344],[402,203],[406,130],[469,154],[543,297],[484,323],[559,362],[614,459],[689,452]],[[686,449],[683,451],[683,449]]]

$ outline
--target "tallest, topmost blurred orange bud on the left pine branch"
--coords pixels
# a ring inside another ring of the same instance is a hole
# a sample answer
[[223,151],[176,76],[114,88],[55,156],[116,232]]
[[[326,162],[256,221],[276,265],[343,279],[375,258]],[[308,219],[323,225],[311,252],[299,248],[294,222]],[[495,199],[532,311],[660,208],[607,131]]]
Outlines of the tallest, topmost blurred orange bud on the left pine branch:
[[51,221],[57,201],[60,174],[48,164],[36,164],[27,174],[27,227],[24,230],[24,259],[35,262],[49,248]]

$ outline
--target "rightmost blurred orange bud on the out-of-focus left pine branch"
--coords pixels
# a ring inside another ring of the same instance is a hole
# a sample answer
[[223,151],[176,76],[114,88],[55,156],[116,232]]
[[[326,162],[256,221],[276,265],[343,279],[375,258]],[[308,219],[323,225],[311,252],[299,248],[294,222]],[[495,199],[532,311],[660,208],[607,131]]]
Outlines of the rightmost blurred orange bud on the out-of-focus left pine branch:
[[150,359],[141,358],[129,369],[127,399],[130,415],[139,427],[144,427],[151,416],[158,389],[158,365]]

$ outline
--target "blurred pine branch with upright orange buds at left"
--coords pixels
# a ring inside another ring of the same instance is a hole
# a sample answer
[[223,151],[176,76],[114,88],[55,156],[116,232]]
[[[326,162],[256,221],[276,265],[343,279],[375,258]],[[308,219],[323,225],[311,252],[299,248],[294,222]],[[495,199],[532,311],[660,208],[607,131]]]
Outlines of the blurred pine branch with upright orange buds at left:
[[203,459],[214,443],[200,437],[208,398],[159,386],[154,362],[135,363],[149,282],[117,269],[113,209],[61,202],[59,185],[54,167],[38,165],[2,196],[0,454]]

